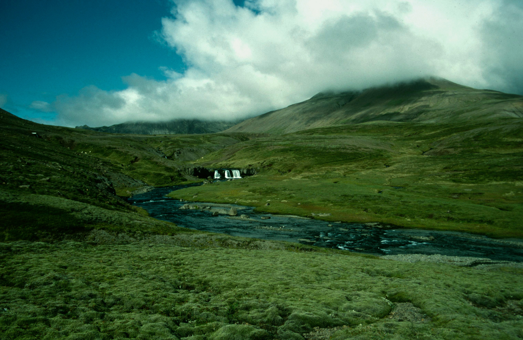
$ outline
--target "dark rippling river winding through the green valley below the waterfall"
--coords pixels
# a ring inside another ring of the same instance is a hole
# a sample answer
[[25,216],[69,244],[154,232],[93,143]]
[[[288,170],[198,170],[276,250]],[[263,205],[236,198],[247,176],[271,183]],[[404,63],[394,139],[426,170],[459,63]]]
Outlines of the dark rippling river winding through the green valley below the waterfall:
[[[135,195],[128,201],[147,210],[151,217],[174,222],[185,228],[233,236],[300,242],[373,255],[441,254],[523,262],[522,240],[506,242],[460,232],[404,229],[396,226],[391,229],[392,226],[377,223],[334,223],[277,217],[255,213],[253,207],[233,205],[238,210],[238,216],[247,214],[256,220],[242,221],[229,219],[224,215],[213,217],[210,211],[205,210],[179,209],[190,202],[165,197],[171,191],[195,185],[200,184],[156,188],[145,194]],[[206,206],[200,202],[195,204]],[[261,217],[270,219],[263,220]],[[328,226],[329,224],[332,226]]]

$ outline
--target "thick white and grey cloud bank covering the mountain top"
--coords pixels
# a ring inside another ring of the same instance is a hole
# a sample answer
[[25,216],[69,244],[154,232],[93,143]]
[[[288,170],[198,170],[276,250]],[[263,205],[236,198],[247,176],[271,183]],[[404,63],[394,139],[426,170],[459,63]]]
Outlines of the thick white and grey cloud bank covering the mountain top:
[[175,0],[162,26],[183,74],[164,66],[165,80],[131,74],[123,90],[59,96],[54,123],[238,119],[428,75],[523,94],[518,1]]

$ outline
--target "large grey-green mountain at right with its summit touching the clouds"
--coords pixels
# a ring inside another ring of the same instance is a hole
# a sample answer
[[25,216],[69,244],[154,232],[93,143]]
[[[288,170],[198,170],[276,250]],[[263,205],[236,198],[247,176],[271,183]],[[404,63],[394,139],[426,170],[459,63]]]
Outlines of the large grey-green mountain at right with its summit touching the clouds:
[[425,78],[362,91],[319,93],[247,119],[225,132],[283,134],[376,120],[454,123],[522,117],[523,96]]

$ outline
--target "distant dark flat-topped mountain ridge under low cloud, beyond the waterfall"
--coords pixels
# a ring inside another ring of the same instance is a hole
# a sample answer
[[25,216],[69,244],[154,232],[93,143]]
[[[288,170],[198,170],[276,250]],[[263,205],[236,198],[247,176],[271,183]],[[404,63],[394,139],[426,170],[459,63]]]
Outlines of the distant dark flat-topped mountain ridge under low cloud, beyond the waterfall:
[[214,133],[228,129],[238,121],[203,121],[198,119],[176,119],[164,122],[134,121],[111,126],[91,128],[87,125],[77,126],[77,129],[93,130],[109,133],[128,134],[196,134]]

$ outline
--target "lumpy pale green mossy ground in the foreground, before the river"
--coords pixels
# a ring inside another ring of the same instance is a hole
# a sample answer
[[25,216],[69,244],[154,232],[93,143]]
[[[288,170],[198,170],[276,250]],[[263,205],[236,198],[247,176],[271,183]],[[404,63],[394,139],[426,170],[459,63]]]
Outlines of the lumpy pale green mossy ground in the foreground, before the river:
[[[333,338],[523,335],[517,271],[219,239],[1,244],[2,339],[303,339],[340,325]],[[405,301],[427,320],[390,319]]]

